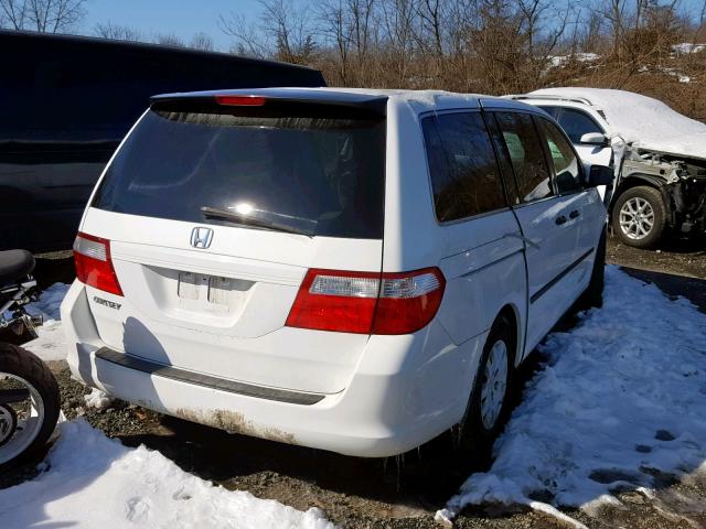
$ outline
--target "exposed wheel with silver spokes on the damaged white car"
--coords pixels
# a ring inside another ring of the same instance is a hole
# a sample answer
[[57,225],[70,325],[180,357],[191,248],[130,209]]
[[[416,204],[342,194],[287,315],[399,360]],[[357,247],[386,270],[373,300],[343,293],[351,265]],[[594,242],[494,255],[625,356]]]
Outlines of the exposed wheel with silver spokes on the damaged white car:
[[612,212],[613,230],[635,248],[654,248],[666,230],[666,206],[659,190],[640,185],[622,193]]

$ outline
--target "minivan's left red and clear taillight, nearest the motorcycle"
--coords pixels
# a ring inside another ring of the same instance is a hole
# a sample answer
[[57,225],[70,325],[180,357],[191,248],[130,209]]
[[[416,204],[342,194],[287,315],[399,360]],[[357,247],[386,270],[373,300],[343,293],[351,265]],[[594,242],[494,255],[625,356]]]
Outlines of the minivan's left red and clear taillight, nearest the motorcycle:
[[110,241],[78,233],[74,241],[74,263],[78,281],[104,292],[122,295],[110,259]]

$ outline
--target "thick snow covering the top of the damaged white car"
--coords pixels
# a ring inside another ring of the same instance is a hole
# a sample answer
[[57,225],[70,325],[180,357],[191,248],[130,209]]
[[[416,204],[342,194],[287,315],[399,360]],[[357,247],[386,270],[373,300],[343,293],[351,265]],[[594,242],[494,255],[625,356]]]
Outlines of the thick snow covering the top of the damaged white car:
[[606,114],[613,134],[641,149],[706,159],[706,125],[664,102],[625,90],[543,88],[534,96],[588,99]]

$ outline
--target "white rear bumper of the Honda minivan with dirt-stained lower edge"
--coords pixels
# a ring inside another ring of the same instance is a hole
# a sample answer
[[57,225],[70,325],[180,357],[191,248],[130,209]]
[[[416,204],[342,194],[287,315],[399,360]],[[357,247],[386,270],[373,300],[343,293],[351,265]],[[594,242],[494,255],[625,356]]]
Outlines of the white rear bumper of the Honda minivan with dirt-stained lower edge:
[[367,457],[406,452],[461,420],[484,339],[457,347],[447,336],[431,352],[443,339],[436,334],[446,335],[435,324],[422,336],[375,336],[346,389],[292,403],[116,361],[120,354],[105,354],[78,282],[62,321],[73,375],[114,397],[232,433]]

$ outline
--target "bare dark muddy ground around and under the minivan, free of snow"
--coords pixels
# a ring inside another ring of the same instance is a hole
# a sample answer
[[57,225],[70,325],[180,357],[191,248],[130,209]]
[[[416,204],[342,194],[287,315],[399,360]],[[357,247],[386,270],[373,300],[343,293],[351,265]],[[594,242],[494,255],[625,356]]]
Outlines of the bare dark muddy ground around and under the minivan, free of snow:
[[[53,257],[55,262],[40,262],[45,283],[71,276],[66,259]],[[655,282],[670,295],[689,298],[706,312],[706,245],[676,241],[653,252],[634,250],[610,239],[608,260]],[[570,327],[574,323],[568,320],[561,325]],[[404,457],[364,460],[231,435],[124,402],[99,412],[86,409],[83,395],[87,390],[69,379],[64,363],[52,368],[62,388],[64,413],[69,419],[83,414],[109,436],[127,445],[145,444],[159,450],[185,471],[224,487],[249,490],[257,497],[277,499],[298,509],[319,507],[344,528],[438,527],[434,512],[471,472],[484,468],[482,463],[461,461],[452,454],[451,434]],[[526,381],[537,369],[539,361],[535,354],[520,378]],[[35,463],[0,476],[0,487],[31,477]],[[566,514],[590,528],[706,528],[705,485],[674,483],[666,476],[655,498],[625,490],[619,495],[622,508],[603,509],[592,517],[576,510]],[[463,511],[456,527],[566,526],[532,511],[489,507]]]

